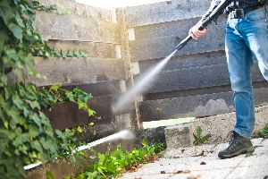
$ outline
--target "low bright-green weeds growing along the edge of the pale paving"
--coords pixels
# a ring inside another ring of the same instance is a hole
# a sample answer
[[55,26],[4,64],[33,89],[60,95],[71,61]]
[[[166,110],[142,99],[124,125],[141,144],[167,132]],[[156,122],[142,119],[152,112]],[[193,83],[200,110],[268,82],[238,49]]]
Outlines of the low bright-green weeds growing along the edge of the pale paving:
[[117,178],[126,171],[136,171],[140,164],[147,164],[154,161],[156,154],[163,150],[163,144],[157,143],[148,145],[147,141],[142,141],[142,147],[134,148],[131,152],[121,149],[117,146],[111,153],[98,153],[98,161],[89,166],[88,170],[77,176],[71,176],[71,179],[105,179]]

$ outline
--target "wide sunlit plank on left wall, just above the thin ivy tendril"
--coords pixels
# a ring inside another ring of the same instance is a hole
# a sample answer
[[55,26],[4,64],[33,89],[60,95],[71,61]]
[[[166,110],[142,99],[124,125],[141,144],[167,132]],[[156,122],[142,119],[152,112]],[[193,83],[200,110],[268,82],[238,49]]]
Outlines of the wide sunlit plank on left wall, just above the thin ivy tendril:
[[38,12],[36,27],[43,38],[120,44],[118,25],[75,15]]

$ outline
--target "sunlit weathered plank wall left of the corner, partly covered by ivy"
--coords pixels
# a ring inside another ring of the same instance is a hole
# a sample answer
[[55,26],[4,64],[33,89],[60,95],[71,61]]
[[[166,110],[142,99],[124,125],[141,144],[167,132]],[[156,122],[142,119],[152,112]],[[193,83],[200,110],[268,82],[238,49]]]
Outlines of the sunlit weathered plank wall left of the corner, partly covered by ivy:
[[[64,102],[47,112],[54,128],[73,128],[94,122],[86,134],[94,141],[114,132],[130,128],[130,113],[114,115],[113,101],[128,83],[125,59],[121,53],[121,25],[116,13],[66,0],[41,0],[42,4],[56,4],[60,14],[37,12],[35,25],[50,46],[63,50],[81,49],[87,58],[36,57],[36,69],[45,79],[32,79],[38,86],[62,83],[65,89],[79,87],[93,95],[88,106],[96,117],[79,110],[75,104]],[[92,132],[96,130],[96,135]]]

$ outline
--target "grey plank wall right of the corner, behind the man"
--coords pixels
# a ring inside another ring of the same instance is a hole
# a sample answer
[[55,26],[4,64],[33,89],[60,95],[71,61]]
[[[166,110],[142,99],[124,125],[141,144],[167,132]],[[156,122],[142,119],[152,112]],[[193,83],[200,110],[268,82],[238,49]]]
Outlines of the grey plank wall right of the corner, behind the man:
[[[130,58],[137,74],[172,53],[197,23],[211,0],[172,0],[125,9],[130,35]],[[208,34],[191,40],[160,73],[155,85],[138,101],[139,121],[218,115],[234,110],[224,52],[226,17],[208,28]],[[135,82],[134,82],[135,83]],[[254,69],[255,103],[268,101],[268,85]]]

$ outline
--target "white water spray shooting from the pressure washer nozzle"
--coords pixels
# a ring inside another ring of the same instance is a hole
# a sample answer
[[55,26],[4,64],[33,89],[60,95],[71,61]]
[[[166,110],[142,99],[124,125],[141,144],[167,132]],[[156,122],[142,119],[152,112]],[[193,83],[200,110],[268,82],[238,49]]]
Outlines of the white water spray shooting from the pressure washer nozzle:
[[130,106],[130,103],[134,100],[136,95],[140,95],[145,92],[148,88],[152,86],[156,80],[157,75],[165,64],[172,58],[172,56],[177,52],[177,49],[172,52],[171,55],[165,57],[161,62],[155,64],[154,67],[150,68],[138,78],[136,84],[126,93],[122,94],[113,105],[113,112],[116,113],[121,109],[125,109]]

